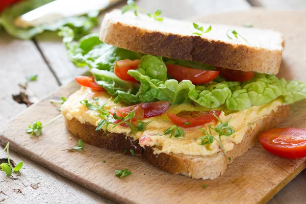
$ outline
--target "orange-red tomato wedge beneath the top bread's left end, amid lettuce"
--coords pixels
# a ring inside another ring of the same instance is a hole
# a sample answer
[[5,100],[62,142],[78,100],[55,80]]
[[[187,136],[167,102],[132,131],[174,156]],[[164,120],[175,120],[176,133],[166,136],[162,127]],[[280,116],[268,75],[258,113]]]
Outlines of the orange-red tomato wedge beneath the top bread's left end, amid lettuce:
[[130,69],[137,69],[139,62],[140,60],[129,59],[117,61],[114,67],[114,72],[121,80],[139,83],[134,77],[127,73]]

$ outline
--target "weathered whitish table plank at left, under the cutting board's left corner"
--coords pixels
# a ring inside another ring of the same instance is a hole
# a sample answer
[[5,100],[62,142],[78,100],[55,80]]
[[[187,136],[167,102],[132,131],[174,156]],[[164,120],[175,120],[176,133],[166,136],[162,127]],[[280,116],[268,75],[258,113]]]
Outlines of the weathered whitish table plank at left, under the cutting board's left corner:
[[[33,41],[22,41],[0,33],[0,132],[15,115],[27,109],[25,104],[18,104],[12,99],[12,94],[19,93],[18,83],[24,84],[25,78],[38,74],[36,82],[28,85],[33,102],[41,99],[46,93],[57,89],[58,83],[50,72]],[[0,147],[0,150],[3,148]],[[24,167],[17,180],[8,178],[0,173],[0,202],[29,203],[29,202],[75,202],[83,200],[90,203],[112,203],[109,199],[69,181],[65,177],[52,172],[29,159],[23,158],[10,151],[11,159],[23,161]],[[2,153],[0,158],[6,158]],[[16,177],[16,176],[15,176]]]

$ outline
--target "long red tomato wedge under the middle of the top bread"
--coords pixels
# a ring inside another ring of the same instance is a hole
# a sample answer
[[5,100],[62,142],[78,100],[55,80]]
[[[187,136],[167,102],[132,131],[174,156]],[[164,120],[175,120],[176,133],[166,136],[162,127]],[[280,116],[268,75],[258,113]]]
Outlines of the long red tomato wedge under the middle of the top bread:
[[176,80],[190,80],[192,84],[205,84],[217,78],[219,71],[193,69],[174,64],[167,64],[168,73]]

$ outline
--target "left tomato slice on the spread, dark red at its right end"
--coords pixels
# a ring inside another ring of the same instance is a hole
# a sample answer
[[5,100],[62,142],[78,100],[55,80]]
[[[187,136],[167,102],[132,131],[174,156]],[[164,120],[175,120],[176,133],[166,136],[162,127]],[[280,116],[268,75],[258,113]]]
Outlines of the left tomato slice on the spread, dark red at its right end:
[[[116,112],[117,116],[125,117],[134,110],[135,118],[133,118],[132,121],[137,122],[137,120],[142,120],[143,118],[149,118],[161,115],[168,110],[169,106],[170,106],[169,101],[157,101],[157,102],[136,104],[133,106],[119,108],[117,110],[112,109],[110,112],[112,115],[114,115],[114,113]],[[120,120],[116,120],[114,123],[118,122],[120,122]]]

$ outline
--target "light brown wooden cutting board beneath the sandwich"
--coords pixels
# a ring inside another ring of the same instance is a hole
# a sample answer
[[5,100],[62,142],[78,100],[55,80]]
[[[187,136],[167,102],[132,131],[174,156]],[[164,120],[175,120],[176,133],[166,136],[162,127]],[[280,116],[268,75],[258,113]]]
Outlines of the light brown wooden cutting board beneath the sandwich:
[[[284,33],[286,48],[279,75],[286,79],[304,79],[306,12],[265,11],[225,13],[197,20],[212,23],[271,28]],[[237,31],[239,32],[239,31]],[[40,137],[30,138],[24,129],[33,121],[43,124],[59,114],[50,98],[68,97],[79,86],[71,82],[32,105],[0,131],[4,145],[10,149],[77,182],[101,195],[125,203],[263,203],[283,188],[306,167],[306,158],[286,160],[265,151],[260,144],[236,158],[226,172],[215,180],[195,180],[160,171],[141,158],[125,156],[85,144],[84,150],[70,152],[78,138],[72,136],[59,118],[43,129]],[[3,107],[5,108],[5,107]],[[306,129],[306,103],[291,106],[290,117],[281,126]],[[103,160],[106,160],[104,163]],[[27,165],[27,164],[25,164]],[[130,176],[119,179],[114,170],[128,168]],[[22,170],[21,170],[22,173]],[[202,186],[207,184],[207,188]]]

